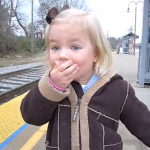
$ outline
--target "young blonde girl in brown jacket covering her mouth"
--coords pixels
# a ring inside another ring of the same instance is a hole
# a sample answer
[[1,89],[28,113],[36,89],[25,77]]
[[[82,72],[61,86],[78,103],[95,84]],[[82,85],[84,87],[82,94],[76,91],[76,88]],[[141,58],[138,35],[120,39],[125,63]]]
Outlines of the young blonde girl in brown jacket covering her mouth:
[[74,9],[46,20],[49,68],[21,104],[27,123],[49,122],[46,150],[122,150],[119,120],[150,147],[150,112],[111,68],[98,20]]

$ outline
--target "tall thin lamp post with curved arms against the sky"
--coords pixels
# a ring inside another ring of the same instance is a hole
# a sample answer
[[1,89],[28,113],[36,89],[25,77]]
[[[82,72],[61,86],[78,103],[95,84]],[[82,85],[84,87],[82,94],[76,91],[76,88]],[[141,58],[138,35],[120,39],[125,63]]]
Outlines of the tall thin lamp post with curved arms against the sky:
[[130,12],[130,8],[129,8],[129,7],[130,7],[130,4],[131,4],[131,3],[134,3],[134,4],[135,4],[135,20],[134,20],[135,22],[134,22],[134,39],[133,39],[133,42],[134,42],[134,43],[133,43],[133,46],[134,46],[134,47],[133,47],[133,48],[134,48],[134,49],[133,49],[133,55],[135,55],[137,4],[138,4],[138,3],[143,3],[143,1],[138,1],[138,2],[130,1],[129,4],[128,4],[127,12]]

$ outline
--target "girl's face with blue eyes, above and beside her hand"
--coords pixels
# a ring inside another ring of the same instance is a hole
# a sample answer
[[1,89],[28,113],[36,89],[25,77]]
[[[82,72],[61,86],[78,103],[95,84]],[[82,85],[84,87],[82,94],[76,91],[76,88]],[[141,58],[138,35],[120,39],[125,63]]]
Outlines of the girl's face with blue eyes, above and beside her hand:
[[63,64],[72,60],[80,68],[74,80],[80,84],[87,84],[94,72],[95,50],[86,32],[73,31],[76,31],[76,26],[70,23],[51,26],[49,31],[50,64],[54,67],[55,61]]

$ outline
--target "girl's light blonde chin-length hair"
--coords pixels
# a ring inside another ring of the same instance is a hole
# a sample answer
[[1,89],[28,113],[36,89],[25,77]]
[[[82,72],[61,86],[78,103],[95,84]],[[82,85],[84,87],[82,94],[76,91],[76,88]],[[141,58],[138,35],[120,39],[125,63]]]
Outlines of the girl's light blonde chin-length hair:
[[46,42],[46,62],[49,64],[49,30],[54,24],[69,22],[77,26],[79,30],[85,30],[88,33],[93,48],[96,50],[98,55],[98,61],[96,62],[94,69],[95,72],[103,75],[109,70],[112,65],[112,54],[110,45],[105,38],[101,25],[97,18],[92,14],[84,12],[82,10],[67,9],[60,12],[51,25],[47,25],[45,30],[45,42]]

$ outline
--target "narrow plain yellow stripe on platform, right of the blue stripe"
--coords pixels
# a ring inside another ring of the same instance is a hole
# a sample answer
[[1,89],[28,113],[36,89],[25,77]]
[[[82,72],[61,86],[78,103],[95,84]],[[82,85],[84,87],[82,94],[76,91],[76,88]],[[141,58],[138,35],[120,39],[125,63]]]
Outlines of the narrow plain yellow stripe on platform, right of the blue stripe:
[[33,136],[25,143],[20,150],[32,150],[32,148],[38,143],[43,137],[47,130],[47,124],[40,127],[40,129],[33,134]]

